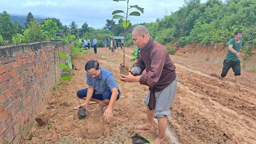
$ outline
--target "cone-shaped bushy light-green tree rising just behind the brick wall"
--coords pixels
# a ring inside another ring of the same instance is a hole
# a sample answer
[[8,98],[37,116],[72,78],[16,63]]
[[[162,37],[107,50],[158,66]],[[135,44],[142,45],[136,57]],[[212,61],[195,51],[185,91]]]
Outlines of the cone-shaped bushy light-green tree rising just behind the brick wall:
[[25,43],[42,42],[46,40],[46,35],[42,32],[42,27],[36,20],[32,20],[29,23],[28,29],[26,29],[23,34]]

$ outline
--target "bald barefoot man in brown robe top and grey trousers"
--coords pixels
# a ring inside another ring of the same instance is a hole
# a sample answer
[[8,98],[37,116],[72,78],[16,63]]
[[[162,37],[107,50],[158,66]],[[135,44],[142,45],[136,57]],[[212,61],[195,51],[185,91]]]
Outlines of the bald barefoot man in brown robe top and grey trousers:
[[[151,143],[164,142],[167,128],[166,116],[170,116],[170,107],[177,89],[177,74],[167,49],[154,41],[146,27],[140,25],[132,33],[133,43],[139,47],[138,61],[129,71],[129,75],[122,75],[123,82],[140,82],[148,85],[149,91],[144,98],[147,105],[147,123],[138,125],[137,129],[154,129],[154,118],[158,121],[158,137]],[[142,73],[146,69],[146,72]]]

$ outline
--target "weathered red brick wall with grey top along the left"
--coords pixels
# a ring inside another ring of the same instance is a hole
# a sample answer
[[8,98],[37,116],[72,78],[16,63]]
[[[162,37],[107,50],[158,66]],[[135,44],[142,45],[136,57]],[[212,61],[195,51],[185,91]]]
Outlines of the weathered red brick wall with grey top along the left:
[[[74,40],[69,41],[74,46]],[[22,140],[20,129],[31,130],[51,88],[60,77],[64,42],[37,42],[0,47],[0,142]]]

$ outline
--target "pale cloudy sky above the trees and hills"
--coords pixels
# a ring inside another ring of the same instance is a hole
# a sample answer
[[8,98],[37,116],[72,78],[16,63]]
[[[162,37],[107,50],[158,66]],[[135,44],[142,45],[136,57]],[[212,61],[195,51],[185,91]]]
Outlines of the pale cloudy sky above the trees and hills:
[[[207,0],[201,0],[205,3]],[[129,16],[132,24],[143,22],[155,22],[157,18],[176,12],[184,4],[183,0],[129,0],[129,6],[138,5],[144,8],[141,16]],[[0,0],[0,13],[6,11],[8,14],[26,15],[31,12],[34,17],[60,19],[62,25],[69,26],[75,21],[79,28],[87,22],[88,27],[101,29],[112,19],[112,12],[127,8],[126,1],[113,0]],[[137,11],[129,9],[128,13]],[[123,15],[124,16],[124,15]],[[118,20],[115,20],[116,23]]]

